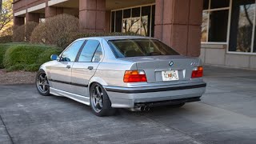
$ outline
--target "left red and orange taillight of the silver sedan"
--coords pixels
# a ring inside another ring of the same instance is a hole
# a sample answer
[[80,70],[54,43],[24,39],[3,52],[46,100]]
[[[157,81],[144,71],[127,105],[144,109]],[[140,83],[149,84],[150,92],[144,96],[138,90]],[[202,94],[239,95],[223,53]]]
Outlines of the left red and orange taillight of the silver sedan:
[[126,70],[123,82],[146,82],[144,70]]

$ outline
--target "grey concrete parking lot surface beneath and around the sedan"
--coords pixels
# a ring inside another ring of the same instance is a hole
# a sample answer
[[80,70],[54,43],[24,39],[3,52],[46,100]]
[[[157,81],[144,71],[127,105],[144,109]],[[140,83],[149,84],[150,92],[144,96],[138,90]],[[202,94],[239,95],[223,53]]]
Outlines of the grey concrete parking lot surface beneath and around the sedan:
[[206,66],[204,80],[201,102],[104,118],[33,85],[0,86],[0,143],[255,143],[256,71]]

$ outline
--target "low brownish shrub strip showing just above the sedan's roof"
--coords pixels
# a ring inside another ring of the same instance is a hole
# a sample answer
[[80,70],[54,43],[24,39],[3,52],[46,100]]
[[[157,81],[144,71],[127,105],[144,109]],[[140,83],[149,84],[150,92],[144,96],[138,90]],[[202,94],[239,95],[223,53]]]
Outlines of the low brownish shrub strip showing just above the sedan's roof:
[[66,46],[69,46],[71,42],[78,38],[87,38],[87,37],[99,37],[99,36],[122,36],[122,35],[139,35],[135,33],[65,33],[58,38],[57,46],[65,49]]

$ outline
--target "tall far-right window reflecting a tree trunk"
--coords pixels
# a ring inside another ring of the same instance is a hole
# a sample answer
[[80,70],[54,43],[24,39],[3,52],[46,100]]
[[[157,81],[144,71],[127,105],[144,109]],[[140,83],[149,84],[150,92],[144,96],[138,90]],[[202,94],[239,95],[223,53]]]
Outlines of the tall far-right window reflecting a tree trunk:
[[254,0],[233,1],[230,25],[230,51],[250,52],[252,50],[254,13]]

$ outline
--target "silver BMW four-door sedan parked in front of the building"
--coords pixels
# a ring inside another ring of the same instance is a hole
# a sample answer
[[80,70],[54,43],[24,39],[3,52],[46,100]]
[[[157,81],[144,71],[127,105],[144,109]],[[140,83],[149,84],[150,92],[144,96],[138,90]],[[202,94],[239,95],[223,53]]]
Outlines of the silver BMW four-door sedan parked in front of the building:
[[38,70],[38,92],[82,102],[98,116],[116,108],[180,107],[200,101],[206,90],[200,59],[155,38],[80,38],[51,59]]

